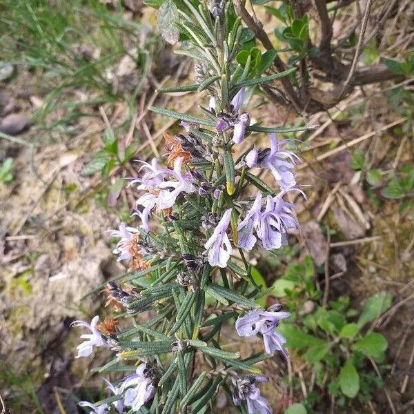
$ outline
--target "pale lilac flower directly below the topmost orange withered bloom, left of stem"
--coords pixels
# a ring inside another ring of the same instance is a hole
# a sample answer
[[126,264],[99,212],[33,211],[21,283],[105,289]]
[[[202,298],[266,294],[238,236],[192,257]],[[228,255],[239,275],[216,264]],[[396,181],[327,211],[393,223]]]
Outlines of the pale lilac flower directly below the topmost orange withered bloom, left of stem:
[[[181,193],[194,193],[197,188],[193,184],[193,179],[188,175],[181,174],[181,166],[183,164],[183,158],[179,157],[174,163],[174,174],[173,176],[177,181],[163,181],[159,184],[159,188],[162,188],[157,197],[156,204],[161,210],[170,208],[175,204],[175,199]],[[172,188],[172,191],[169,190]]]

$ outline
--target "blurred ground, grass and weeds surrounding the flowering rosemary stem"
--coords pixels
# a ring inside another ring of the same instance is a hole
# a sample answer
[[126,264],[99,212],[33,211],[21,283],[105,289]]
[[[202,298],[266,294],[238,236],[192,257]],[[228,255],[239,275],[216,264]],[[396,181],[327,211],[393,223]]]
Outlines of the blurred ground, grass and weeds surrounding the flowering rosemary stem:
[[[257,282],[273,288],[264,304],[297,315],[281,326],[288,364],[263,363],[278,384],[264,395],[275,413],[410,412],[414,4],[252,3],[235,1],[240,66],[299,68],[256,91],[253,117],[316,126],[297,135],[300,182],[313,186],[302,233],[252,256]],[[121,274],[104,232],[131,220],[124,178],[133,159],[165,152],[174,125],[148,106],[198,111],[186,92],[158,92],[194,76],[186,43],[174,54],[159,36],[159,6],[0,0],[0,392],[13,412],[71,413],[105,395],[92,363],[75,361],[68,326],[103,306],[83,299],[90,288]],[[219,394],[210,409],[226,404]]]

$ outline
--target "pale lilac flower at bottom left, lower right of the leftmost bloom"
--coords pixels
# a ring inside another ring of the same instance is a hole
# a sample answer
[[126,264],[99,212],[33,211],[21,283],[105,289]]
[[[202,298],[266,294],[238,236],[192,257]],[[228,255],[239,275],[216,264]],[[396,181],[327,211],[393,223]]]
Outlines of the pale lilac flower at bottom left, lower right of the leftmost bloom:
[[120,389],[122,392],[126,390],[124,404],[132,407],[134,411],[138,411],[146,402],[152,400],[157,391],[152,385],[151,375],[148,375],[147,364],[139,365],[135,374],[125,377]]

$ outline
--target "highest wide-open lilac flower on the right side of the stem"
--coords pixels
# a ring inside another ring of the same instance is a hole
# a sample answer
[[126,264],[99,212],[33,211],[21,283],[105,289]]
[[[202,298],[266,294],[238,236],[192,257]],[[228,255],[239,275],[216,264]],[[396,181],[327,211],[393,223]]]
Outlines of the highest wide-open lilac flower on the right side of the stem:
[[299,157],[292,151],[281,149],[288,140],[277,141],[276,134],[270,134],[270,152],[267,152],[259,166],[268,168],[275,177],[282,190],[288,190],[295,186],[293,168]]

